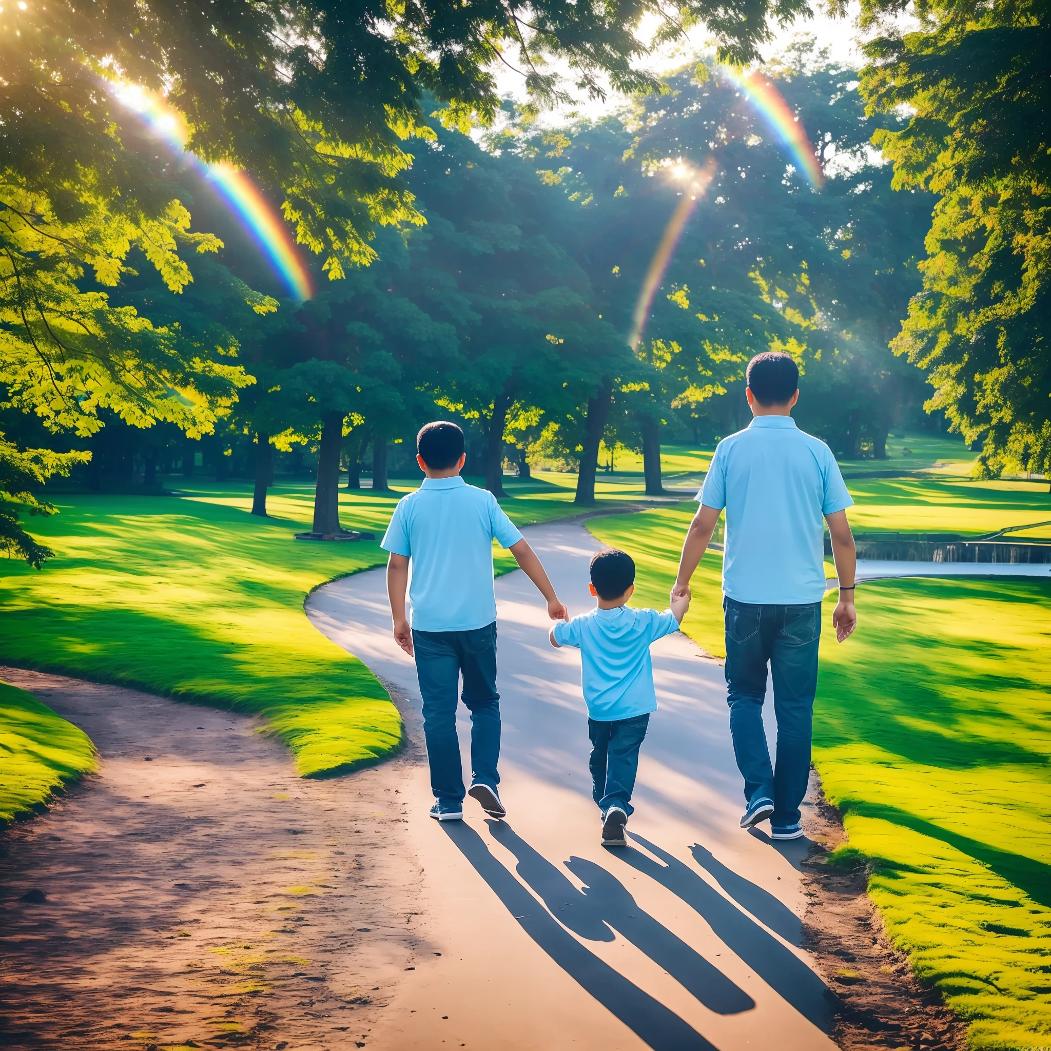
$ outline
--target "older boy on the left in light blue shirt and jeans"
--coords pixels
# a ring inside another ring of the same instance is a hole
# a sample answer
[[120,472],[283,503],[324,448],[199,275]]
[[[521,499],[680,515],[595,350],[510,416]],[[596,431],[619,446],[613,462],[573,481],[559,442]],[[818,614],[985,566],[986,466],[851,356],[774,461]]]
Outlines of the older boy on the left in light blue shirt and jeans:
[[[456,689],[471,712],[471,787],[468,794],[494,818],[506,815],[497,785],[500,695],[496,692],[496,596],[493,540],[548,601],[552,620],[566,618],[533,549],[485,489],[459,476],[466,459],[463,432],[437,420],[416,435],[416,462],[427,476],[394,509],[380,547],[390,552],[387,595],[394,639],[416,660],[424,698],[424,736],[431,766],[431,817],[463,817],[463,772],[456,736]],[[405,596],[412,563],[412,624]]]

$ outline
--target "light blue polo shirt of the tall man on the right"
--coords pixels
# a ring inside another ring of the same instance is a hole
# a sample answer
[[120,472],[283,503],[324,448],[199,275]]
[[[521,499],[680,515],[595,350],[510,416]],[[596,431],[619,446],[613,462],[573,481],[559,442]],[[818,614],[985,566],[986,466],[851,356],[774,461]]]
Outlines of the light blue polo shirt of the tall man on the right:
[[724,594],[755,605],[824,598],[822,516],[853,503],[824,441],[791,416],[756,416],[719,442],[697,498],[726,509]]

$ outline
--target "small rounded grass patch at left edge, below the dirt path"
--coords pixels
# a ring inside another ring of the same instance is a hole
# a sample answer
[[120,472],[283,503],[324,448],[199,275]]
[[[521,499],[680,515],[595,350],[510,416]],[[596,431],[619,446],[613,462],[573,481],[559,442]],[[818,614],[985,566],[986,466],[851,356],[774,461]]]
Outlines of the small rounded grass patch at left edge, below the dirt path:
[[87,735],[32,694],[0,682],[0,826],[95,769]]

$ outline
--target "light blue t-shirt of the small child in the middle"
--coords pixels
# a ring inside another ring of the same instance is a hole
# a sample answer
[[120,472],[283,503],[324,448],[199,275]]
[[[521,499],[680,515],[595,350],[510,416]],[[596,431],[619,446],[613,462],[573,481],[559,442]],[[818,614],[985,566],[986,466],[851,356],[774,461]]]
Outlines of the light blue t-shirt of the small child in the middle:
[[633,719],[657,710],[650,646],[679,630],[671,610],[592,610],[555,625],[560,646],[580,651],[580,679],[588,715],[598,722]]

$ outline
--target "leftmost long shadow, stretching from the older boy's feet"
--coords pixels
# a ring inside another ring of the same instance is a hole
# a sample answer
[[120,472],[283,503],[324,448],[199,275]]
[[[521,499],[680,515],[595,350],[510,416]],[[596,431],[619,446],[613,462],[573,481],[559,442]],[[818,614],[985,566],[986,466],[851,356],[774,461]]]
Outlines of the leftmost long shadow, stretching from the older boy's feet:
[[[717,1051],[696,1029],[582,946],[490,853],[467,823],[441,830],[489,884],[522,930],[582,989],[654,1051]],[[612,936],[612,935],[611,935]]]

